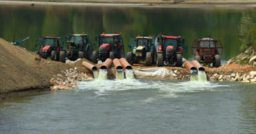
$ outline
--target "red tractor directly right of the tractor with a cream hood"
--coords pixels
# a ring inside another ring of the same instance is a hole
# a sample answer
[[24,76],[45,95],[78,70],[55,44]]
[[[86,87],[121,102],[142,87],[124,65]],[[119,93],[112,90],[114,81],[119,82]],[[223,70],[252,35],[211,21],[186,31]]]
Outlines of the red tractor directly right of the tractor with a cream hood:
[[168,65],[182,67],[183,46],[186,46],[185,39],[181,36],[159,35],[156,39],[157,46],[157,66]]

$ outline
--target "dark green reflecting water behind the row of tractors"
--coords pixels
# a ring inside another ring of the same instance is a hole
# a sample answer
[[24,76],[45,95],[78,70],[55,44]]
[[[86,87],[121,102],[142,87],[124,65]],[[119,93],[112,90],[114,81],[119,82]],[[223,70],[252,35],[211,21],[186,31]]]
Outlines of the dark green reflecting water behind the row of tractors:
[[12,41],[30,36],[23,44],[34,51],[36,38],[64,37],[67,33],[88,33],[92,42],[100,33],[123,33],[125,50],[130,37],[140,35],[182,35],[188,43],[186,58],[192,57],[190,46],[198,38],[211,36],[223,42],[223,60],[239,53],[237,26],[242,13],[256,19],[255,9],[175,9],[131,7],[86,7],[52,5],[0,5],[0,37]]

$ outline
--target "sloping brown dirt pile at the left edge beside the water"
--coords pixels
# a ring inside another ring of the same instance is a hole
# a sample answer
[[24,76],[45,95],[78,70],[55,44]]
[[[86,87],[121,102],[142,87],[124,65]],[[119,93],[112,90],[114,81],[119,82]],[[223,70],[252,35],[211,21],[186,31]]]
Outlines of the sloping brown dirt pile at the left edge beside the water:
[[71,65],[44,60],[0,38],[0,93],[50,88],[50,78]]

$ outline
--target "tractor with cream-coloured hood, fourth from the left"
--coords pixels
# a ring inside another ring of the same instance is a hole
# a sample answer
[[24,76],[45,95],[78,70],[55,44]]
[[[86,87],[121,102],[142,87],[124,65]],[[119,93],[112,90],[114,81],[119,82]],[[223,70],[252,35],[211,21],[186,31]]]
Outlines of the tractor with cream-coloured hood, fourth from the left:
[[127,52],[126,60],[130,64],[138,64],[140,60],[146,60],[146,65],[155,64],[157,52],[152,36],[140,36],[130,39],[129,43],[132,52]]

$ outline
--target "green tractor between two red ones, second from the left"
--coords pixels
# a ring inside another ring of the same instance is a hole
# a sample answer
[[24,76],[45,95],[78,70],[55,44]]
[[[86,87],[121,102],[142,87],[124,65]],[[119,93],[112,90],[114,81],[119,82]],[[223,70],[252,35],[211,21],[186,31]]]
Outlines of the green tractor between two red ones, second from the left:
[[93,46],[87,34],[67,34],[67,51],[65,56],[69,60],[86,58],[92,60]]

